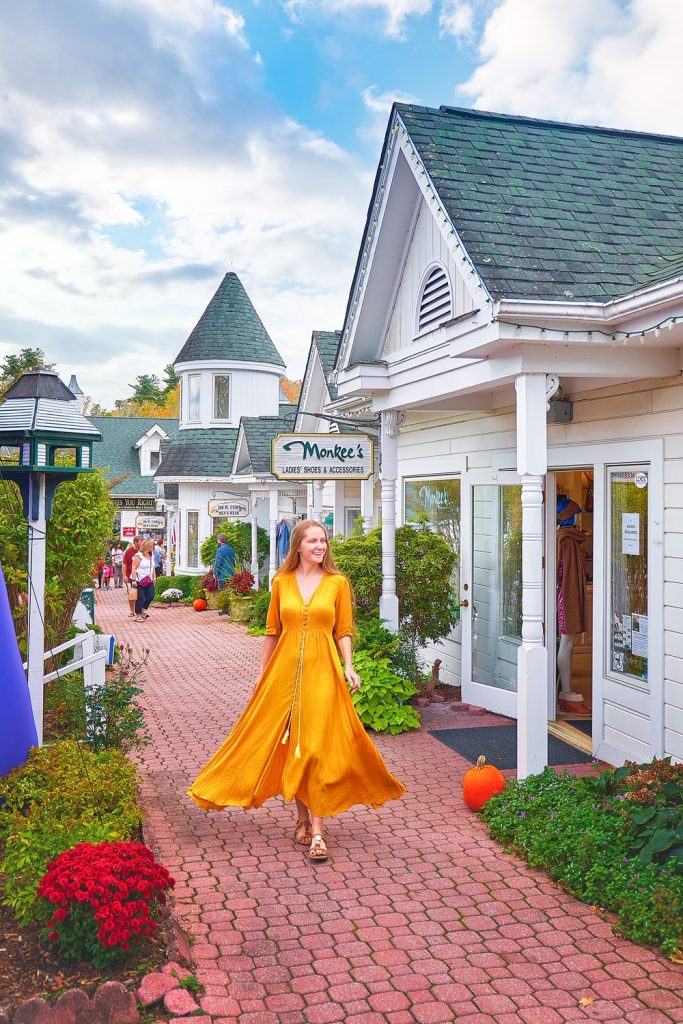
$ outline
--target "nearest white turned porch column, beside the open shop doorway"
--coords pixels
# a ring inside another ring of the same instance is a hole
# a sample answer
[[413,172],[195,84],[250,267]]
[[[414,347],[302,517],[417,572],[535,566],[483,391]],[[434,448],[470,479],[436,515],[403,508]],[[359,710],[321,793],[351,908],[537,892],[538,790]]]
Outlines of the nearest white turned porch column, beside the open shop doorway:
[[548,764],[548,654],[544,637],[543,481],[548,470],[546,375],[523,374],[517,392],[522,481],[522,642],[517,652],[517,776]]

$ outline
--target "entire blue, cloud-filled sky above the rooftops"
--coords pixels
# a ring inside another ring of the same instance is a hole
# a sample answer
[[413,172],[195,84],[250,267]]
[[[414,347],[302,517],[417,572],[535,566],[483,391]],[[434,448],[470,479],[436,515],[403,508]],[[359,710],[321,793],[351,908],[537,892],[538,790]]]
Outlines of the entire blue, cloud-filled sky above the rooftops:
[[0,358],[111,406],[226,270],[302,374],[393,99],[683,135],[681,0],[3,0]]

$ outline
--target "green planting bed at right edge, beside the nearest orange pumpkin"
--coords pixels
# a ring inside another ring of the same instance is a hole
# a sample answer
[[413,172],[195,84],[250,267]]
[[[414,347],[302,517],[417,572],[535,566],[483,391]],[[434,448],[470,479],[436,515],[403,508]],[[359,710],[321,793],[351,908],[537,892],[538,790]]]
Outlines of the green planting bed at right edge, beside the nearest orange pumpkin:
[[595,778],[547,768],[484,806],[494,839],[543,867],[615,930],[683,951],[683,766],[627,764]]

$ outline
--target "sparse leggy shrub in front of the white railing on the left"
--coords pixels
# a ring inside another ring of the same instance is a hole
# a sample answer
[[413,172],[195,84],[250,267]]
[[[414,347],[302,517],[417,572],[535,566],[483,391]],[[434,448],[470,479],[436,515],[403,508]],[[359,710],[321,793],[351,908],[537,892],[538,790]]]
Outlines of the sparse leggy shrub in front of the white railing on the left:
[[46,711],[52,712],[47,738],[84,740],[95,753],[110,748],[130,751],[147,743],[138,697],[148,653],[144,650],[139,657],[130,644],[120,644],[119,658],[104,685],[87,692],[82,672],[54,680],[45,694]]

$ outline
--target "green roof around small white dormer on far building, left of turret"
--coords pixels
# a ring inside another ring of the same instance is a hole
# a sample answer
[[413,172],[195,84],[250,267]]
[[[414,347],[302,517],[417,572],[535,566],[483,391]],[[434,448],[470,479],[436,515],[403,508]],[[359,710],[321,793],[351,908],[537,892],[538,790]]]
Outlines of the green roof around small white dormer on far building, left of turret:
[[178,421],[147,416],[89,416],[87,419],[102,435],[102,443],[93,447],[93,465],[104,469],[109,479],[125,474],[125,478],[112,487],[112,494],[156,496],[154,476],[140,476],[137,443],[154,426],[161,427],[173,438]]

